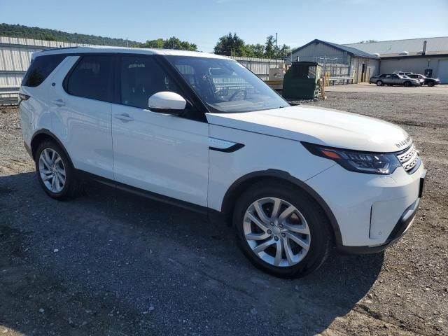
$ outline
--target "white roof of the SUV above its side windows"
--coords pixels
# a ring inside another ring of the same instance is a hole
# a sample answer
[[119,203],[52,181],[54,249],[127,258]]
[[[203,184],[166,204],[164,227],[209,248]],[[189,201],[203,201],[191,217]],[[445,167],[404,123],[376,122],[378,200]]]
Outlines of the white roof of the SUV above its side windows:
[[55,48],[34,52],[33,56],[52,55],[52,54],[80,54],[90,52],[112,52],[120,54],[142,54],[142,55],[175,55],[175,56],[190,56],[190,57],[207,57],[207,58],[221,58],[228,59],[228,57],[209,54],[207,52],[186,51],[186,50],[171,50],[171,49],[146,49],[146,48],[125,48],[125,47],[69,47],[69,48]]

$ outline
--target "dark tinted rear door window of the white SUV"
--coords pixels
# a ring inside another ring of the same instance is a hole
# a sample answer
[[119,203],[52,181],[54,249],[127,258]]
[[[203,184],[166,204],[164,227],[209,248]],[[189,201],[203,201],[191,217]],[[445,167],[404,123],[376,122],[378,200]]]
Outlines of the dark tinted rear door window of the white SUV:
[[113,56],[83,56],[66,78],[64,88],[73,96],[112,102]]

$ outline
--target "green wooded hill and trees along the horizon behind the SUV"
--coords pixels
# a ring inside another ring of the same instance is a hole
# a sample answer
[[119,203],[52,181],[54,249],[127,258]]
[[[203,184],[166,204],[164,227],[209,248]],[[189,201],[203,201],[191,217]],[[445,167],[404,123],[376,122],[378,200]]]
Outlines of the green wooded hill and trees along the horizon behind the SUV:
[[[36,40],[59,41],[79,44],[112,45],[118,47],[130,46],[134,48],[162,48],[197,51],[197,45],[189,41],[181,41],[176,36],[157,38],[144,43],[129,41],[124,38],[110,38],[78,33],[67,33],[55,29],[27,27],[23,25],[0,24],[0,36],[18,38],[33,38]],[[214,53],[226,56],[258,57],[270,59],[284,59],[289,53],[288,45],[276,46],[274,36],[269,35],[264,44],[246,44],[236,33],[221,36],[216,43]]]

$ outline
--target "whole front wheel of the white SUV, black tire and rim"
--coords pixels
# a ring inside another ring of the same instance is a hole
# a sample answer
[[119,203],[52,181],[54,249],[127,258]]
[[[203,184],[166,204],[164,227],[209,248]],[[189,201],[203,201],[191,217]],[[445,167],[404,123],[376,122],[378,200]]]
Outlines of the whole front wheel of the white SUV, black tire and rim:
[[[280,204],[277,214],[282,216],[272,217],[276,203]],[[293,212],[286,216],[291,207]],[[282,278],[305,276],[318,269],[332,247],[330,223],[321,207],[288,183],[260,182],[248,188],[237,200],[233,225],[238,245],[253,265]],[[278,258],[277,247],[281,251]]]

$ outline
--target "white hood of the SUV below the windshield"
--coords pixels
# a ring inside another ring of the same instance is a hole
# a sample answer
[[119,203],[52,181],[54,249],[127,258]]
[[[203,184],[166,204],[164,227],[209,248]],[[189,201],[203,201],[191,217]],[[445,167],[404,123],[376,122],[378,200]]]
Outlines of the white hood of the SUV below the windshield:
[[207,113],[207,120],[211,125],[357,151],[390,153],[411,144],[407,132],[391,123],[314,106],[244,113]]

